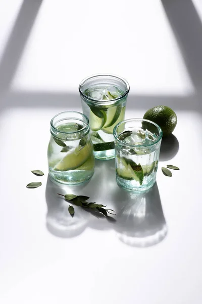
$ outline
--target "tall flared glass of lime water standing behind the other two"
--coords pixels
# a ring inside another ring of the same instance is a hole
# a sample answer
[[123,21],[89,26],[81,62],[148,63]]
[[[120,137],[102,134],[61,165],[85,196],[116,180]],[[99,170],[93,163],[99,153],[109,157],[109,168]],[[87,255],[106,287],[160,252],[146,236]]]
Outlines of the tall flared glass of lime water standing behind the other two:
[[96,159],[115,157],[113,129],[125,117],[128,82],[115,75],[96,74],[79,85],[83,113],[89,118]]

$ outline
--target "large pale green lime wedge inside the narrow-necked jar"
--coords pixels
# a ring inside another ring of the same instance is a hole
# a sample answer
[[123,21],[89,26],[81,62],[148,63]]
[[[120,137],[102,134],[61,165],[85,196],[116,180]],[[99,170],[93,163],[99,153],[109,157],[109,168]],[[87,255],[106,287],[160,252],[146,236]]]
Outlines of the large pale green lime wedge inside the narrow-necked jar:
[[92,153],[92,146],[88,142],[86,145],[79,150],[77,147],[73,153],[68,153],[62,161],[60,161],[55,167],[56,171],[67,171],[74,170],[80,167],[85,161],[88,159],[90,154]]

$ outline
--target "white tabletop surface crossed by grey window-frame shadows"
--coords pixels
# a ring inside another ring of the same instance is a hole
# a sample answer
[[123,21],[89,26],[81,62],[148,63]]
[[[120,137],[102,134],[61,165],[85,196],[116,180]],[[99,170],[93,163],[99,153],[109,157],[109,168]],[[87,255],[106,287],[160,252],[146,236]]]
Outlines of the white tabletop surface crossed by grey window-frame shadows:
[[[201,304],[201,17],[200,0],[0,2],[0,303]],[[51,118],[81,111],[78,85],[100,72],[129,82],[126,118],[177,114],[148,194],[122,191],[114,160],[73,190],[47,177]],[[180,171],[164,176],[167,164]],[[116,221],[71,218],[59,191]]]

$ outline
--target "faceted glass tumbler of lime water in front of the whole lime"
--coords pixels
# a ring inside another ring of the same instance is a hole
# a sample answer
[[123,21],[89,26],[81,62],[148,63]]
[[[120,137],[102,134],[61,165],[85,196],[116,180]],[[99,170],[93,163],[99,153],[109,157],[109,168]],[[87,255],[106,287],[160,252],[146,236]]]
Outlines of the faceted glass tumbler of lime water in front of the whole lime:
[[156,181],[161,128],[148,120],[129,119],[114,128],[117,183],[131,191],[149,189]]

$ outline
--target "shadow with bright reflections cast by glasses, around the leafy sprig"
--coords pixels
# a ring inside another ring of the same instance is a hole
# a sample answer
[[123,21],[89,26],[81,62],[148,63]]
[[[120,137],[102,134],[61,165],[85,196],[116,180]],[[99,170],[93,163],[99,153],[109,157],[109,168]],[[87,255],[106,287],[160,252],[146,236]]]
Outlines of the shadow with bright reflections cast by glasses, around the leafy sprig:
[[[69,203],[57,193],[86,195],[90,201],[103,203],[116,210],[117,216],[94,214],[75,206],[72,218]],[[115,160],[96,160],[95,173],[90,182],[77,186],[53,183],[46,184],[46,226],[58,237],[75,237],[86,227],[96,230],[114,230],[123,243],[135,247],[148,247],[161,242],[167,234],[158,186],[148,191],[134,193],[120,188],[116,183]]]

